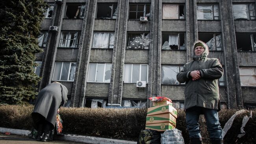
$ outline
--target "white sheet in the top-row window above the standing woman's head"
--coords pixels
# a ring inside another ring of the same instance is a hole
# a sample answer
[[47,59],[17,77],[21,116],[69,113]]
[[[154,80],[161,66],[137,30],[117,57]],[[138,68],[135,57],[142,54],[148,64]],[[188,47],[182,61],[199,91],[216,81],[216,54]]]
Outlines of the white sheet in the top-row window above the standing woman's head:
[[213,20],[211,5],[197,5],[197,20]]

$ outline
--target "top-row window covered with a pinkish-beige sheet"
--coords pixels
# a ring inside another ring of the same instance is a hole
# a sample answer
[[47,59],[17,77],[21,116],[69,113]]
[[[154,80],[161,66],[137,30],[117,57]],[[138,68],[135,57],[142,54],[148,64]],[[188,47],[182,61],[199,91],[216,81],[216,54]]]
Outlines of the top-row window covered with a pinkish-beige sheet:
[[184,5],[163,4],[163,19],[184,20]]

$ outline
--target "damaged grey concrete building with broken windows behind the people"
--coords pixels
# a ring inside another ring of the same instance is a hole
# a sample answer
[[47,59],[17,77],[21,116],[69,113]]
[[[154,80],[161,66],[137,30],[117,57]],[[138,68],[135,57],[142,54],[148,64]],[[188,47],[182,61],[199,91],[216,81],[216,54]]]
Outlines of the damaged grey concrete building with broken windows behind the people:
[[224,67],[221,106],[256,106],[256,0],[46,0],[39,89],[67,86],[73,107],[184,103],[176,74],[202,40]]

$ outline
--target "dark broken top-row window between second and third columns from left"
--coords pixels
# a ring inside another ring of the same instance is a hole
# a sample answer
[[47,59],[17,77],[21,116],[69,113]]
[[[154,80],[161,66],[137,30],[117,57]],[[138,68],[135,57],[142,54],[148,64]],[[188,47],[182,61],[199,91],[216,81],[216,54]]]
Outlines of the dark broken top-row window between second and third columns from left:
[[96,18],[116,19],[117,18],[117,4],[98,3]]

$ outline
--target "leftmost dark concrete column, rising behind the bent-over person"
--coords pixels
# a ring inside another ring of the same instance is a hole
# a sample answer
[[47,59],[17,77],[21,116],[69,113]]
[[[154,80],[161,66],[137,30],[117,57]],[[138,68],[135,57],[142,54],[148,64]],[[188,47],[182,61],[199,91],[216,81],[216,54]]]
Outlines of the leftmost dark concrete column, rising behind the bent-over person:
[[44,49],[42,68],[40,76],[42,77],[39,90],[51,83],[54,71],[54,63],[58,48],[59,35],[61,33],[62,15],[65,13],[65,3],[55,3],[51,18],[51,26],[58,26],[58,31],[49,31]]

